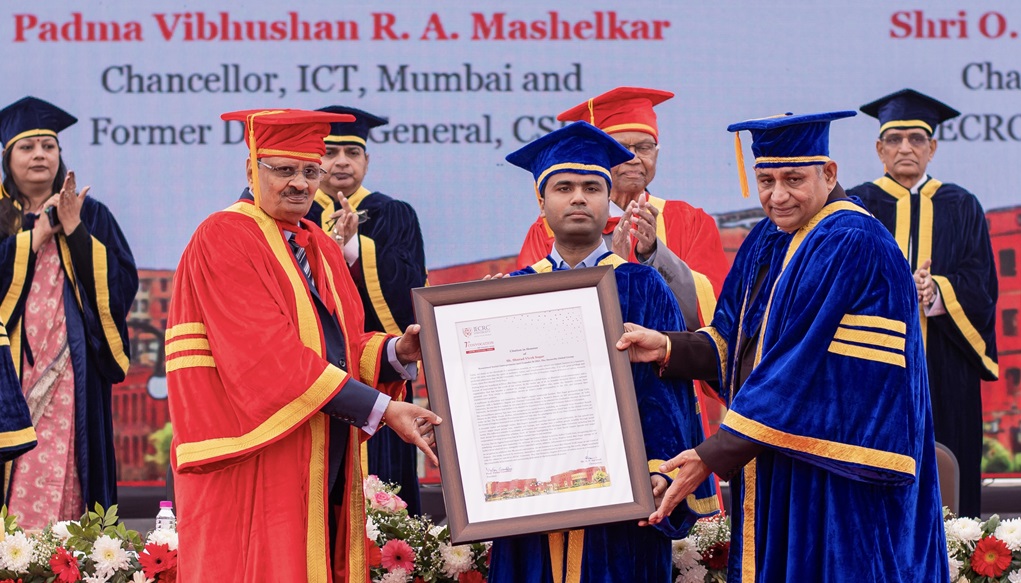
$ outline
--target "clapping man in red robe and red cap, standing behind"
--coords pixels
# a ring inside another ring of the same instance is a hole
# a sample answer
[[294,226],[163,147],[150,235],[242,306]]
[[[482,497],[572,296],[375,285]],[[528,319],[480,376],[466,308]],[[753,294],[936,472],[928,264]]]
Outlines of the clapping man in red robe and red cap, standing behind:
[[[669,91],[618,87],[556,118],[588,122],[635,153],[633,159],[611,171],[614,186],[603,239],[621,257],[655,268],[674,292],[684,322],[696,330],[713,320],[716,297],[727,276],[727,258],[716,221],[704,210],[648,193],[660,152],[652,107],[673,96]],[[525,237],[518,266],[542,259],[552,245],[553,233],[539,216]]]

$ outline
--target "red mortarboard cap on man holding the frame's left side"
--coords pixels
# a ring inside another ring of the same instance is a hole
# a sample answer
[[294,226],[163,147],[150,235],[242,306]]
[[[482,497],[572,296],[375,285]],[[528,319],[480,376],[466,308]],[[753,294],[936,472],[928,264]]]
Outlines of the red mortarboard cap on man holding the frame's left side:
[[245,123],[245,141],[256,158],[283,156],[315,163],[326,153],[323,139],[330,135],[330,124],[354,122],[353,115],[303,109],[246,109],[220,118]]

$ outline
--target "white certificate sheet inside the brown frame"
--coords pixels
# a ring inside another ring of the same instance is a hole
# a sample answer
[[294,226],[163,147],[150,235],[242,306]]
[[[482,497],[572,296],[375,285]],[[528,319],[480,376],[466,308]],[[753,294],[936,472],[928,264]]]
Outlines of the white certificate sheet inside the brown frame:
[[634,499],[594,288],[435,315],[471,522]]

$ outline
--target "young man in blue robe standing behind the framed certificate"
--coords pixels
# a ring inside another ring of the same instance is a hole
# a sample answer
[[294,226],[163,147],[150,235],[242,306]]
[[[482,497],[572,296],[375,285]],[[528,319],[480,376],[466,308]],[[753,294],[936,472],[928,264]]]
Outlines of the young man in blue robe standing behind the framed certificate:
[[[610,168],[633,154],[600,130],[577,122],[510,153],[510,163],[532,173],[542,209],[553,231],[553,247],[539,262],[510,274],[612,265],[625,320],[644,326],[684,329],[677,300],[657,271],[629,263],[606,249],[602,229],[610,212]],[[649,456],[653,494],[671,478],[658,468],[674,448],[702,440],[690,381],[660,379],[652,365],[632,367],[638,409]],[[657,527],[625,522],[570,532],[493,541],[490,583],[633,583],[671,581],[671,538],[684,537],[700,517],[716,514],[712,482],[703,480]]]

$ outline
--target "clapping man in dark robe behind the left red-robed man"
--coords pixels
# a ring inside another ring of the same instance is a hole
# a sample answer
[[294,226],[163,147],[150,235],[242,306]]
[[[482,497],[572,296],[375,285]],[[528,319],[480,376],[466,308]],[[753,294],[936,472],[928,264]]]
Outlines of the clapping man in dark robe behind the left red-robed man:
[[[411,289],[426,285],[426,253],[411,205],[362,186],[369,172],[369,132],[389,120],[368,111],[331,105],[320,111],[352,115],[330,124],[315,199],[305,218],[321,226],[344,251],[366,310],[366,332],[400,334],[415,324]],[[404,400],[411,400],[407,383]],[[390,428],[366,444],[367,471],[400,486],[407,512],[421,514],[419,455]]]

